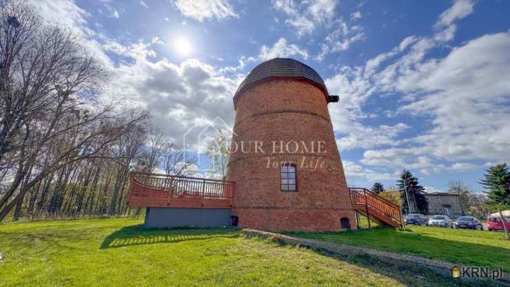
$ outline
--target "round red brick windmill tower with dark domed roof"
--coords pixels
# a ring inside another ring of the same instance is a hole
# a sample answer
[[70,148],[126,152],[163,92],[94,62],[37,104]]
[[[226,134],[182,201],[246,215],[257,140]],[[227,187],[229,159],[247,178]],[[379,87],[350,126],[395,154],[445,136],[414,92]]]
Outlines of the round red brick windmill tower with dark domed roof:
[[294,59],[256,66],[234,95],[228,181],[242,227],[327,231],[356,228],[318,73]]

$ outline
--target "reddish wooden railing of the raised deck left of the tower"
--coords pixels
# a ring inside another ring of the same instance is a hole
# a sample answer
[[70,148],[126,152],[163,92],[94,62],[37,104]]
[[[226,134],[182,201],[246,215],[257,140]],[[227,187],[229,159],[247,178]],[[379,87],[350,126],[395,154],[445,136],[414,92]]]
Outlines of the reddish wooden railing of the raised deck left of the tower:
[[235,185],[232,181],[132,172],[128,206],[230,208]]

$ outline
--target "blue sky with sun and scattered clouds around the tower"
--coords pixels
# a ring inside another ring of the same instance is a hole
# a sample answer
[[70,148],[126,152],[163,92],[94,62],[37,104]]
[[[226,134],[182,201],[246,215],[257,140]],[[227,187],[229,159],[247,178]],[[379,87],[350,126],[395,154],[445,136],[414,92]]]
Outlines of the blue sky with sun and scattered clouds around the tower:
[[176,141],[216,117],[232,124],[247,73],[292,57],[340,95],[329,112],[349,186],[395,184],[407,168],[428,190],[479,191],[487,166],[510,163],[508,1],[32,4],[104,63],[105,95],[148,108]]

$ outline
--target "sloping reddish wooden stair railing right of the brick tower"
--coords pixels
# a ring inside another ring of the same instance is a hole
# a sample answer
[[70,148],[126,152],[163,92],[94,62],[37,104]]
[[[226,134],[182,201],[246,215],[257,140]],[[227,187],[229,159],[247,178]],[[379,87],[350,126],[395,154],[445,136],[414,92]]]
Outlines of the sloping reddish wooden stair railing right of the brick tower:
[[398,225],[402,226],[400,206],[376,195],[367,188],[349,188],[349,193],[351,194],[351,204],[365,206],[367,208],[367,212],[375,210],[376,212],[385,215],[387,219],[393,220]]

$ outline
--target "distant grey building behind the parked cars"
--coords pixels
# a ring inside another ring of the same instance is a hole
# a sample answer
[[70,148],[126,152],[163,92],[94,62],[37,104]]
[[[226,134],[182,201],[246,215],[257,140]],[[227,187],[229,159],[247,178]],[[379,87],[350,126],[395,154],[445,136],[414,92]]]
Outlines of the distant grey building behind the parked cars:
[[426,193],[425,197],[429,201],[430,215],[447,215],[449,217],[464,215],[458,192],[431,192]]

